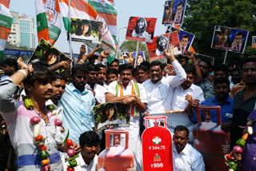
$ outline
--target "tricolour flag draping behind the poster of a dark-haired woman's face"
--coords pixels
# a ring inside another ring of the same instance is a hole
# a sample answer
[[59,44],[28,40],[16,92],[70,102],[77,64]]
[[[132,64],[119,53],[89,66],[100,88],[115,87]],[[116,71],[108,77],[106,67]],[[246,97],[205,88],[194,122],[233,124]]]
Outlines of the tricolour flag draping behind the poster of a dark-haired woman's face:
[[[68,9],[69,3],[68,0],[59,0],[59,4],[62,11],[62,17],[64,26],[67,31],[70,31],[71,24],[68,18]],[[70,0],[70,18],[79,18],[79,19],[87,19],[103,22],[102,26],[102,48],[104,50],[110,50],[110,58],[108,58],[108,62],[112,62],[116,56],[116,49],[114,44],[114,39],[110,34],[110,30],[106,25],[104,19],[98,15],[98,13],[94,10],[90,4],[88,4],[85,0]]]

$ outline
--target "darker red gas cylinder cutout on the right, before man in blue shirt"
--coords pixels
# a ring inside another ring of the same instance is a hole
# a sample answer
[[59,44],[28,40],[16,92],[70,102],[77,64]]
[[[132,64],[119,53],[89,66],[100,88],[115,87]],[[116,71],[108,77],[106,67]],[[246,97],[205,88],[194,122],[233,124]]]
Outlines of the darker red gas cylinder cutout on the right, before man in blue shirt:
[[[204,117],[211,119],[210,110],[217,110],[218,123],[212,121],[202,121],[200,110],[204,112]],[[194,147],[202,153],[208,171],[228,170],[224,161],[224,154],[230,152],[230,133],[225,133],[221,129],[222,116],[219,105],[199,105],[196,109],[198,124],[193,129]]]

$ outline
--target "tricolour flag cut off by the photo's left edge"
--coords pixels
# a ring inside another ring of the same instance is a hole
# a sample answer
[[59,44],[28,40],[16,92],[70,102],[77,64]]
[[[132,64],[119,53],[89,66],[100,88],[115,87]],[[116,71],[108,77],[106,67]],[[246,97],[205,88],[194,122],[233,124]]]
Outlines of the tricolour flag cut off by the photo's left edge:
[[0,61],[2,61],[3,50],[5,50],[7,38],[10,34],[13,17],[9,10],[10,0],[0,1]]

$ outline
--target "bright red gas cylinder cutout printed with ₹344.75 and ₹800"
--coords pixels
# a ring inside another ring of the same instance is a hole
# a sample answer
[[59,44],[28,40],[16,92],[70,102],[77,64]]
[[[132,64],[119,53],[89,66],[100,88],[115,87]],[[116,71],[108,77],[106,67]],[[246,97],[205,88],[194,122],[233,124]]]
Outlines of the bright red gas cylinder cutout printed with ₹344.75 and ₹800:
[[[172,171],[173,155],[171,135],[166,129],[166,117],[145,117],[146,130],[142,133],[142,157],[144,171]],[[154,126],[149,128],[148,122]]]

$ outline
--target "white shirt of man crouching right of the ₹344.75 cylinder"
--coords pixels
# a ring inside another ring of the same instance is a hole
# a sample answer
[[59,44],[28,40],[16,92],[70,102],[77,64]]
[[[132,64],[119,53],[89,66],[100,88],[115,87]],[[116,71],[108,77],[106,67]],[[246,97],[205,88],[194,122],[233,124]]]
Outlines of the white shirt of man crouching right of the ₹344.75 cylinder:
[[186,144],[181,153],[178,153],[173,143],[174,171],[205,171],[202,154],[190,144]]

